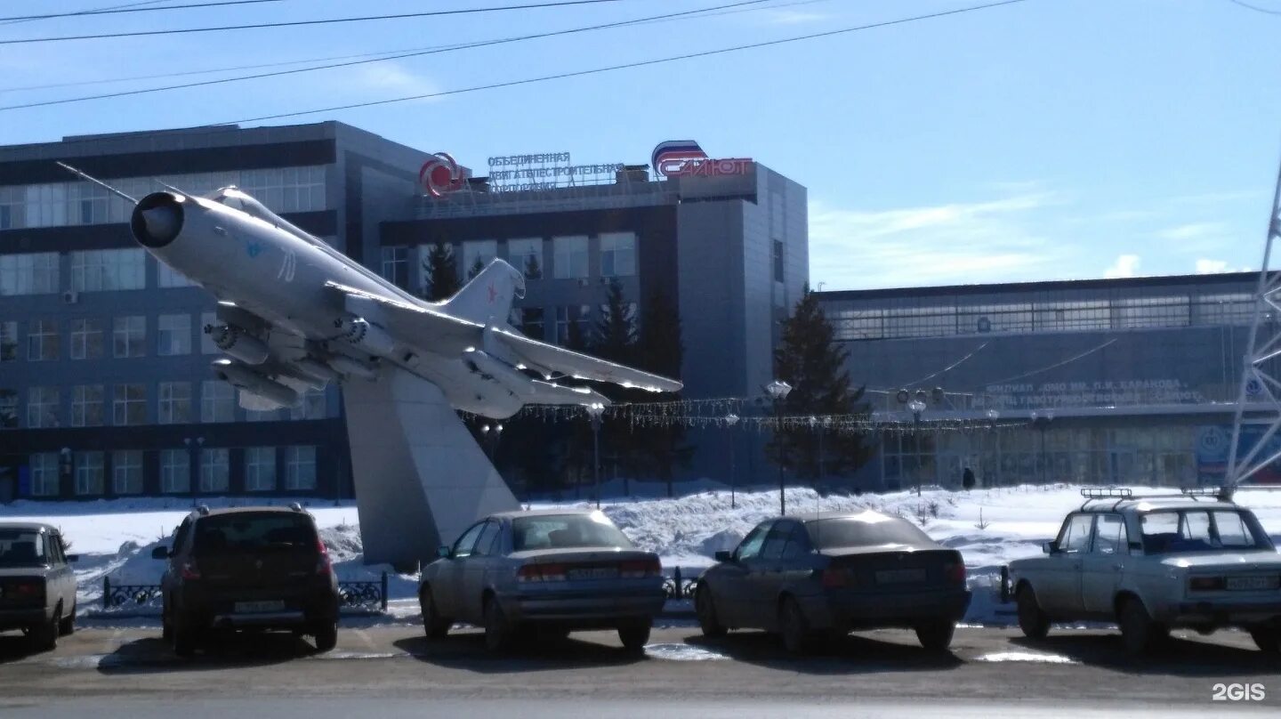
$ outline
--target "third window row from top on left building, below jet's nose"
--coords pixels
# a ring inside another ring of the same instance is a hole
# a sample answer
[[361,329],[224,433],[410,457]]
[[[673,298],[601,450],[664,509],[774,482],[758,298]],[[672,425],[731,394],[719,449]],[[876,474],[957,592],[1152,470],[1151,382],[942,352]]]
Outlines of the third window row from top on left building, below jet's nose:
[[[218,347],[204,332],[206,324],[214,324],[216,315],[204,313],[200,324],[192,327],[193,315],[161,314],[156,317],[155,354],[158,356],[190,355],[195,346],[193,329],[200,333],[200,352],[218,354]],[[65,328],[65,335],[63,329]],[[17,320],[0,319],[0,363],[15,361],[26,356],[28,361],[55,361],[61,359],[63,342],[67,341],[67,356],[73,360],[102,359],[106,356],[108,322],[97,317],[82,317],[60,323],[53,318],[37,318],[27,322],[26,352],[20,351],[22,337]],[[110,319],[111,356],[117,359],[141,358],[147,355],[147,318],[126,315]]]

